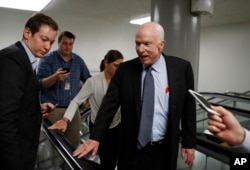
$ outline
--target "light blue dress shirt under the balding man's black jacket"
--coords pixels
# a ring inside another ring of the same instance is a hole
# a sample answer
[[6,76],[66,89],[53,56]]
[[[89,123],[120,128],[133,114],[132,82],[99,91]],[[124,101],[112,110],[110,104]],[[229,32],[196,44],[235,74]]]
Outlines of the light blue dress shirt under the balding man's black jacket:
[[[168,75],[164,57],[161,55],[152,67],[151,73],[154,77],[155,103],[151,141],[159,141],[165,137],[169,112]],[[144,69],[141,81],[142,91],[145,74],[146,70]]]

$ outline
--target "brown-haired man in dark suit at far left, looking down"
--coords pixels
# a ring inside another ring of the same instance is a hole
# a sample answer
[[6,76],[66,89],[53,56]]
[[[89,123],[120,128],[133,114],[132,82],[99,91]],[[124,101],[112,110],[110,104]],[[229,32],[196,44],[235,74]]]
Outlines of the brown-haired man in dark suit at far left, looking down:
[[38,13],[25,24],[21,41],[0,50],[0,169],[34,170],[42,116],[51,103],[40,105],[36,58],[46,54],[58,25]]

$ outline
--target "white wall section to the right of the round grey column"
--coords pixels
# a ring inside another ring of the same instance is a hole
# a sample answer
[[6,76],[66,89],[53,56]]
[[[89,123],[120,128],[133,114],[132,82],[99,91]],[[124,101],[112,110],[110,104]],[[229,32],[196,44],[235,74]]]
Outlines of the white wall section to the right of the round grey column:
[[201,30],[199,91],[250,90],[250,22]]

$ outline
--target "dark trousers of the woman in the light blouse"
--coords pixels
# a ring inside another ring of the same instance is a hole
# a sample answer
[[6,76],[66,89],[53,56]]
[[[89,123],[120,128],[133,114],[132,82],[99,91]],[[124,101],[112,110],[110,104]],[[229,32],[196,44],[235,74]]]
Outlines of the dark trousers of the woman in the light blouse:
[[[90,133],[93,123],[90,122]],[[102,141],[98,150],[98,155],[101,161],[101,170],[114,170],[117,164],[118,141],[119,141],[120,125],[109,129]]]

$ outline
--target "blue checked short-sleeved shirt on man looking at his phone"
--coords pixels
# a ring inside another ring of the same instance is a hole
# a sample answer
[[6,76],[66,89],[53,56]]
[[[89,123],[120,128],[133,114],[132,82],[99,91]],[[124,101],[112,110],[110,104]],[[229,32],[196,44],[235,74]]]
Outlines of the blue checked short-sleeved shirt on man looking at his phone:
[[[39,61],[37,78],[39,85],[42,87],[42,79],[54,74],[59,68],[69,68],[69,78],[57,81],[53,86],[47,89],[41,88],[41,102],[51,102],[59,104],[61,107],[67,107],[70,101],[77,95],[81,86],[91,77],[83,59],[75,53],[71,54],[71,59],[65,62],[58,51],[52,51]],[[70,88],[65,88],[66,81],[70,84]]]

